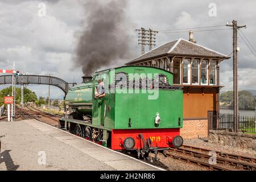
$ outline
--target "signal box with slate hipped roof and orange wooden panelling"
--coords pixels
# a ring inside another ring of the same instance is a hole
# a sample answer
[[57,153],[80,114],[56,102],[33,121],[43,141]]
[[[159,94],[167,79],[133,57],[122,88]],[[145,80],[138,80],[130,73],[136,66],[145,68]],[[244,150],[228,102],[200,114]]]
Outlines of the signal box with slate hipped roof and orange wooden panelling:
[[221,61],[229,59],[212,49],[178,39],[144,53],[126,65],[146,65],[170,71],[174,85],[183,86],[183,138],[208,137],[210,115],[219,112]]

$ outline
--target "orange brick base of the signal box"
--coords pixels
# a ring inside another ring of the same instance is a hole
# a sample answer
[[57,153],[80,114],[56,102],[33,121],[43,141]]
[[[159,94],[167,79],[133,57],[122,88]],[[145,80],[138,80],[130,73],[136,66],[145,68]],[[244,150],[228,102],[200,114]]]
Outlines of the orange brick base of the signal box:
[[184,120],[183,127],[180,129],[180,136],[184,139],[207,138],[208,120]]

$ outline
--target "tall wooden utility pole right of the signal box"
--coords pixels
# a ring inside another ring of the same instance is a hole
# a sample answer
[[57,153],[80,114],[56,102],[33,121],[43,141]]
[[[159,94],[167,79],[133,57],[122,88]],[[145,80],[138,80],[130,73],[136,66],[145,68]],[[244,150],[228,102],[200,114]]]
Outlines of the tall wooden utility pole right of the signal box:
[[245,26],[237,26],[237,21],[227,23],[226,26],[233,27],[233,99],[234,99],[234,132],[238,132],[238,86],[237,86],[237,29]]

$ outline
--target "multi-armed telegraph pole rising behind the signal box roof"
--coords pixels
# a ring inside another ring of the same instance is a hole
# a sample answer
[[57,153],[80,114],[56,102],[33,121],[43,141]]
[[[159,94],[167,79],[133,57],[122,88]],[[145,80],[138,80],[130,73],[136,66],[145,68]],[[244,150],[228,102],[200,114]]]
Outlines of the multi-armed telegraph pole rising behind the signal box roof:
[[148,30],[145,30],[145,28],[136,29],[136,31],[139,32],[138,41],[141,44],[141,53],[143,55],[145,53],[145,46],[149,46],[150,51],[152,46],[155,46],[155,36],[158,31],[151,30],[150,28]]

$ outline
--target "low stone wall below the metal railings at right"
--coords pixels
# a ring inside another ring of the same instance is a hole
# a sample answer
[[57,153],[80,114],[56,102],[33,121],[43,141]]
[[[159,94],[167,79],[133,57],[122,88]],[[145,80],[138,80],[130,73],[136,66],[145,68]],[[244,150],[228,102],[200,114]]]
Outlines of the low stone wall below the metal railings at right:
[[256,150],[256,135],[233,133],[229,131],[210,130],[209,142]]

